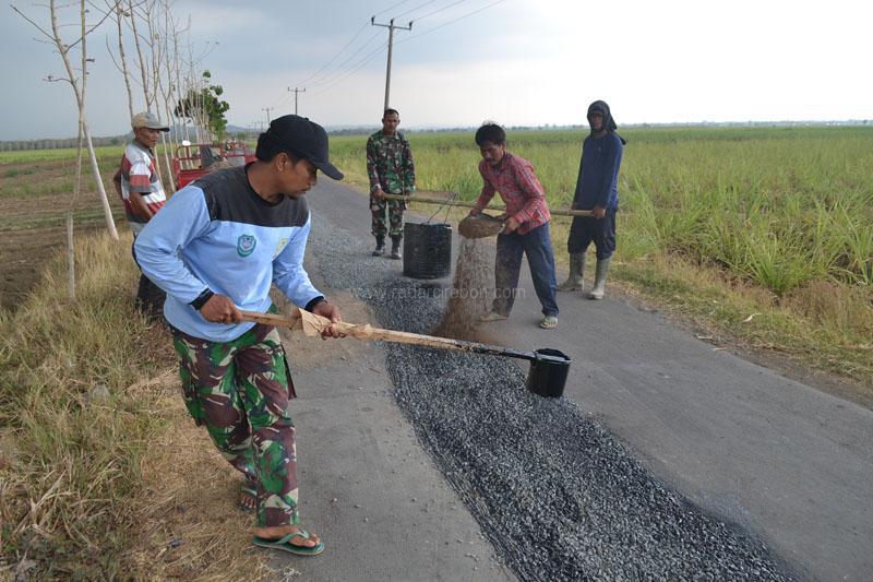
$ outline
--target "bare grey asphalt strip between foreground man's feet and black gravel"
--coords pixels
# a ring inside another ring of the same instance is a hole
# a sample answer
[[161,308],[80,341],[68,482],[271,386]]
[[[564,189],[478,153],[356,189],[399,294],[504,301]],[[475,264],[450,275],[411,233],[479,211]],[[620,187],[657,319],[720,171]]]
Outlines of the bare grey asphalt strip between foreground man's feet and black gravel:
[[[362,302],[321,278],[318,251],[307,270],[347,321],[371,319]],[[275,553],[272,578],[512,580],[397,408],[384,351],[299,334],[286,334],[284,343],[299,396],[292,415],[301,520],[322,536],[325,551],[316,558]]]

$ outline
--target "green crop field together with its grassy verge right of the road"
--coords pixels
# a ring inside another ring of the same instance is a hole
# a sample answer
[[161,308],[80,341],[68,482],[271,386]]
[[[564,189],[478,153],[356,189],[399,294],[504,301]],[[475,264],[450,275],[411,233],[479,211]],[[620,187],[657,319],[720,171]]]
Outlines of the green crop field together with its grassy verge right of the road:
[[[873,403],[873,129],[621,133],[629,144],[615,278],[714,342],[739,341],[853,380]],[[509,150],[534,163],[552,209],[570,207],[586,134],[509,132]],[[476,199],[473,132],[409,140],[420,190]],[[359,186],[367,185],[364,144],[332,139],[335,163]],[[569,218],[553,221],[560,261],[569,227]]]

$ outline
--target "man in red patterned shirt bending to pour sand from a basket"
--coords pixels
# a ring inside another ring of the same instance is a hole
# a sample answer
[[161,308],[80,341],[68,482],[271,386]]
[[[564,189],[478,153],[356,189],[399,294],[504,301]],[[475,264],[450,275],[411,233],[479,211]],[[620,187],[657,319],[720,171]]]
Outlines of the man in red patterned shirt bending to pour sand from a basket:
[[495,123],[486,123],[476,132],[476,144],[482,155],[479,174],[485,185],[470,214],[479,214],[488,202],[500,193],[506,204],[505,226],[498,235],[494,265],[494,302],[482,321],[499,321],[510,317],[522,257],[527,257],[534,289],[542,306],[539,326],[551,330],[558,326],[557,281],[554,254],[549,236],[551,214],[546,203],[542,186],[527,159],[506,151],[506,132]]

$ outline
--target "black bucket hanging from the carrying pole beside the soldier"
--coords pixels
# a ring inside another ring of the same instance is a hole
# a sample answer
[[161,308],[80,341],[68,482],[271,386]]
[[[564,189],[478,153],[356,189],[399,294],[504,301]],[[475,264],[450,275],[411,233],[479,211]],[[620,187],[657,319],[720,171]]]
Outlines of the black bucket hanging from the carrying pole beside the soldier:
[[406,223],[403,227],[403,274],[440,278],[452,272],[452,226]]

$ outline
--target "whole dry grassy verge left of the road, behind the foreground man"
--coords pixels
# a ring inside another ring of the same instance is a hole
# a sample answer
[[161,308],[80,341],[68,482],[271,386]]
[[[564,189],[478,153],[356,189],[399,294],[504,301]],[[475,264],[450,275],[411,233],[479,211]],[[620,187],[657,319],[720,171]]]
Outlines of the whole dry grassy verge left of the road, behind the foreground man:
[[129,247],[80,238],[77,301],[59,257],[0,312],[0,577],[260,578],[238,477],[132,310]]

